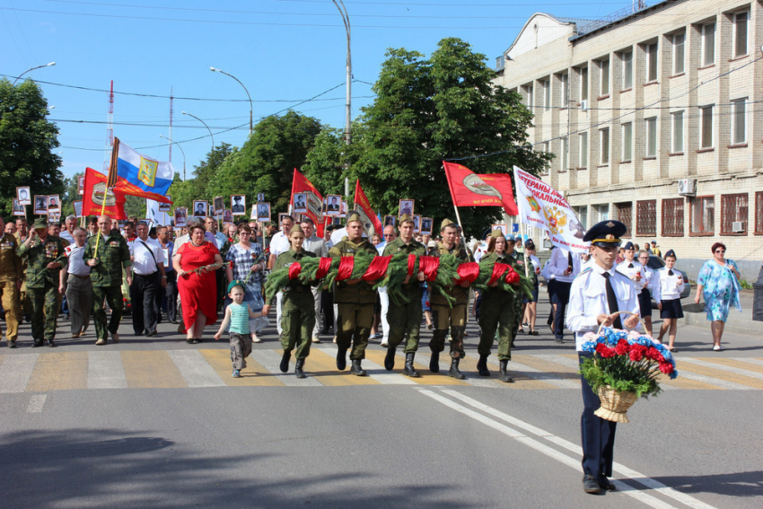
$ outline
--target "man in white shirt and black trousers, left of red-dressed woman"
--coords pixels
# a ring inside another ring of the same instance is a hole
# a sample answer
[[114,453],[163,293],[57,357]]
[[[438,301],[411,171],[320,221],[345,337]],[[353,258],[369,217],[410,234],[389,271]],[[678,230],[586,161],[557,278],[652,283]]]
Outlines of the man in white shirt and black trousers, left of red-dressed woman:
[[[156,336],[156,294],[167,286],[164,274],[164,251],[157,241],[148,238],[148,224],[137,224],[137,238],[129,242],[132,253],[133,280],[130,302],[133,305],[133,330],[136,336]],[[159,277],[161,276],[161,279]]]

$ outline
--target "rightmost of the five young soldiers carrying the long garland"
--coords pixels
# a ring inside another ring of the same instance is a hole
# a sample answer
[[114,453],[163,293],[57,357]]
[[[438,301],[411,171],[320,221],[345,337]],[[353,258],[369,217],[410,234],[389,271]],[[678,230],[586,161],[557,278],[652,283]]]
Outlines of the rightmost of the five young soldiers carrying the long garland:
[[[506,238],[500,230],[494,230],[490,234],[490,241],[487,244],[487,254],[479,260],[479,264],[505,263],[519,273],[521,268],[512,256],[513,250],[513,235]],[[490,376],[490,372],[487,370],[487,357],[496,341],[497,330],[501,381],[513,382],[506,369],[509,361],[512,360],[512,331],[516,334],[516,329],[519,327],[520,316],[519,312],[516,311],[515,301],[518,300],[522,305],[522,296],[504,291],[496,286],[488,286],[482,293],[482,304],[479,309],[480,335],[477,347],[479,353],[477,369],[480,376]],[[516,291],[519,292],[519,286],[516,287]]]

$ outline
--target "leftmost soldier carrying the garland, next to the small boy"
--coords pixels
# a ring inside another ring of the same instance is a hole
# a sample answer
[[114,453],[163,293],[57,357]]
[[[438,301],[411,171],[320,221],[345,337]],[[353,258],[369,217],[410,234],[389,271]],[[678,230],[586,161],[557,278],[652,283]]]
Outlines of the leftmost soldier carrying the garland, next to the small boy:
[[[289,232],[292,248],[278,255],[273,270],[288,267],[304,258],[315,258],[310,251],[303,250],[304,232],[299,224],[294,224]],[[318,285],[315,282],[313,285]],[[284,356],[281,358],[281,373],[289,371],[289,359],[296,347],[297,362],[294,373],[297,378],[305,378],[304,360],[310,355],[312,329],[315,328],[315,299],[312,296],[311,285],[303,285],[295,278],[283,289],[284,298],[281,301],[281,347]],[[267,295],[267,304],[263,306],[263,314],[270,312],[270,305],[276,300],[276,294]]]

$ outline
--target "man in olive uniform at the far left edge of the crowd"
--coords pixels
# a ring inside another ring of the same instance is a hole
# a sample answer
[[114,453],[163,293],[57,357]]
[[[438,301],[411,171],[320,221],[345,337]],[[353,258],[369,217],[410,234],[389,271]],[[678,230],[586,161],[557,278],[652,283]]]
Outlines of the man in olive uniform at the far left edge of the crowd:
[[[9,223],[13,224],[13,223]],[[0,232],[4,232],[5,222],[0,217]],[[19,337],[19,318],[22,310],[19,305],[19,288],[22,286],[22,259],[16,253],[19,244],[11,233],[0,233],[0,296],[5,310],[5,339],[8,347],[16,347]]]

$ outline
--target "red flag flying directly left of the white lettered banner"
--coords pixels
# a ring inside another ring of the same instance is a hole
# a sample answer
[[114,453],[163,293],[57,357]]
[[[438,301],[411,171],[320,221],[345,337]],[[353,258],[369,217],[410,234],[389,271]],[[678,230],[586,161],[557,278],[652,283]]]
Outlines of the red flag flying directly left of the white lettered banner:
[[511,175],[478,175],[466,166],[453,162],[443,161],[443,166],[455,206],[503,206],[506,214],[519,214],[514,201]]

